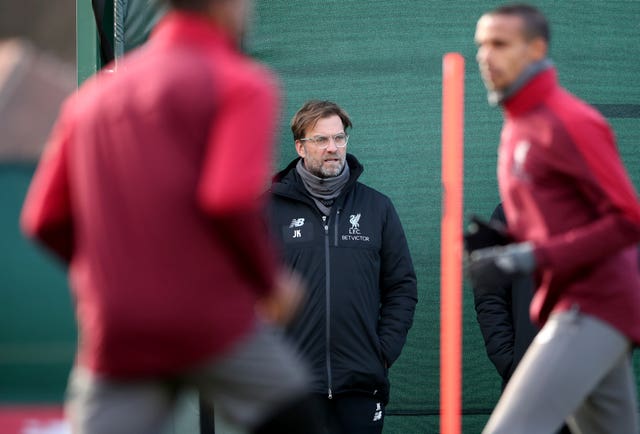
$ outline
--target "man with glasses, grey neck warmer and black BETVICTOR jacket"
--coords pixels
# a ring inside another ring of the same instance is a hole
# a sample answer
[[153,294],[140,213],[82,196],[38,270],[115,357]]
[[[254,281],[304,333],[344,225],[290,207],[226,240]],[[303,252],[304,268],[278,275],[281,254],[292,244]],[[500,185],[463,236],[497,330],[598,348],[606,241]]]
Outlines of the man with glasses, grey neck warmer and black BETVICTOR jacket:
[[309,101],[291,130],[299,158],[274,178],[270,221],[308,294],[287,329],[312,368],[329,433],[381,433],[388,369],[413,322],[416,276],[400,219],[358,182],[347,113]]

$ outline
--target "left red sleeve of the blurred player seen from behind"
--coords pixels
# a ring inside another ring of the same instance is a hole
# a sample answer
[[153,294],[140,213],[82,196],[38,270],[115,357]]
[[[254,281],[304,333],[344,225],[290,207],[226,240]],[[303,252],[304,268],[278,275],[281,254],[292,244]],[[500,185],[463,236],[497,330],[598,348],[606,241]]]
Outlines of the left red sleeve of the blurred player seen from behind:
[[72,137],[69,113],[68,109],[63,109],[49,136],[20,215],[23,233],[36,239],[65,263],[71,261],[74,250],[67,159]]

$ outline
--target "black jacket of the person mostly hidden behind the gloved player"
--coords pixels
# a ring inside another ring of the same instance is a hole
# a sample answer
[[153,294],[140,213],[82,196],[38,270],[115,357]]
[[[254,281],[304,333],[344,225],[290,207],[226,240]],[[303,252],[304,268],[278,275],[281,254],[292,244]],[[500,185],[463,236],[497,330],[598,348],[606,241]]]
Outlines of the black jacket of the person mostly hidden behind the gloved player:
[[[502,204],[493,211],[491,220],[507,223]],[[533,279],[520,277],[501,295],[474,294],[487,355],[502,377],[503,389],[538,331],[529,316],[533,291]]]

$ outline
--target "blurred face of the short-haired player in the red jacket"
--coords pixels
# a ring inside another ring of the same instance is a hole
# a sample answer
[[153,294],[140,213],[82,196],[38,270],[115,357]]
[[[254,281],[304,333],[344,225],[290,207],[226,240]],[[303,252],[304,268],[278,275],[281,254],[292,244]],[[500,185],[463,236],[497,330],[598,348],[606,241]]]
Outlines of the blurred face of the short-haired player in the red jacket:
[[527,40],[522,18],[483,15],[476,26],[476,60],[488,90],[503,91],[534,61],[542,60],[540,39]]

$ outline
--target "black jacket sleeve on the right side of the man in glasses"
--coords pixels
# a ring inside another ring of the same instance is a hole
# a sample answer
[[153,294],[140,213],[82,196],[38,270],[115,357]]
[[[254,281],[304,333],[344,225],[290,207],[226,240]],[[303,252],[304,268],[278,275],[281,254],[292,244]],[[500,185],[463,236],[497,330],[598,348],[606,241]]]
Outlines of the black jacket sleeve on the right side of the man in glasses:
[[391,201],[387,200],[382,235],[378,336],[387,367],[390,367],[400,356],[413,323],[418,288],[400,218]]

